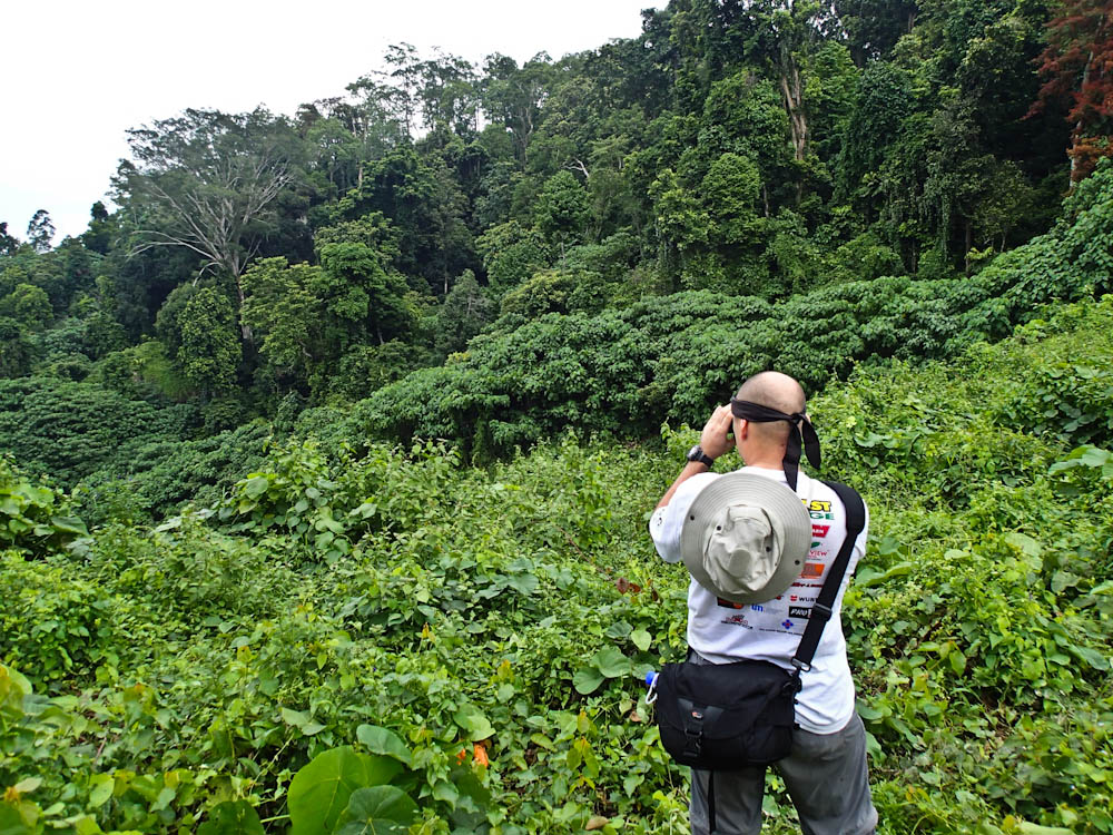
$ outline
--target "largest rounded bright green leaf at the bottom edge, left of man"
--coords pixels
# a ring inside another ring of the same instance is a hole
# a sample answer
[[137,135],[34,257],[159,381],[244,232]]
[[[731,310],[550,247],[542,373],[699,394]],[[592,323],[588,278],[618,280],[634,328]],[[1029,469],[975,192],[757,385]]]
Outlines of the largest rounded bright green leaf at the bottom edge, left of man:
[[289,784],[292,835],[328,835],[353,792],[385,785],[401,770],[394,759],[357,754],[351,746],[322,752]]

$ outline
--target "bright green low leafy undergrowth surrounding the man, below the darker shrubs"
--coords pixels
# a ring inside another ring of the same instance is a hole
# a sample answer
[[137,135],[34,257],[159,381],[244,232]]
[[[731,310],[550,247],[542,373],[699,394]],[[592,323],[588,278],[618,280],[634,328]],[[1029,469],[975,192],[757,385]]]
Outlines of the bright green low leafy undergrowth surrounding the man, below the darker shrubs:
[[[844,628],[881,832],[1113,832],[1111,322],[811,403],[871,509]],[[10,528],[0,829],[687,832],[638,681],[684,648],[644,523],[693,432],[662,434],[489,470],[298,442],[154,529]]]

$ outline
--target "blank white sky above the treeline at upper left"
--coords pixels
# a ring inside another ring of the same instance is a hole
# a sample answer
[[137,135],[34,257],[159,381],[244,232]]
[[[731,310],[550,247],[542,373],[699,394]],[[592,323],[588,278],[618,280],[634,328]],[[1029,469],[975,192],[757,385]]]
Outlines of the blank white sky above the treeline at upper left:
[[[0,222],[24,238],[45,208],[79,235],[125,130],[187,107],[293,114],[382,68],[391,43],[473,62],[554,59],[641,31],[667,0],[51,0],[8,3],[0,32]],[[106,200],[107,202],[107,200]]]

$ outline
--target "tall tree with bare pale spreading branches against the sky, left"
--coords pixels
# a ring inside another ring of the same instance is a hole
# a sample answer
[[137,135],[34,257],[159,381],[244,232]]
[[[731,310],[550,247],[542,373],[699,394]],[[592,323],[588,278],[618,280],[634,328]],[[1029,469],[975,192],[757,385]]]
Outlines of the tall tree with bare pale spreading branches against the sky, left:
[[[243,304],[240,276],[273,230],[275,199],[293,177],[292,139],[285,119],[263,108],[186,110],[128,130],[136,161],[120,163],[115,186],[139,218],[132,254],[189,249],[203,268],[232,277]],[[243,334],[250,338],[246,325]]]

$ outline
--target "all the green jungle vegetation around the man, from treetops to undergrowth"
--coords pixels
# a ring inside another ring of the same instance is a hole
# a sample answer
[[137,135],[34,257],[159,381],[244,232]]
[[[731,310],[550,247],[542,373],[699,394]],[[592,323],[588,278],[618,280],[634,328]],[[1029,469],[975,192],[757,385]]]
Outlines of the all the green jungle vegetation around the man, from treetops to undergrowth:
[[368,63],[0,223],[0,834],[688,832],[646,522],[772,367],[870,507],[878,832],[1113,833],[1113,3]]

